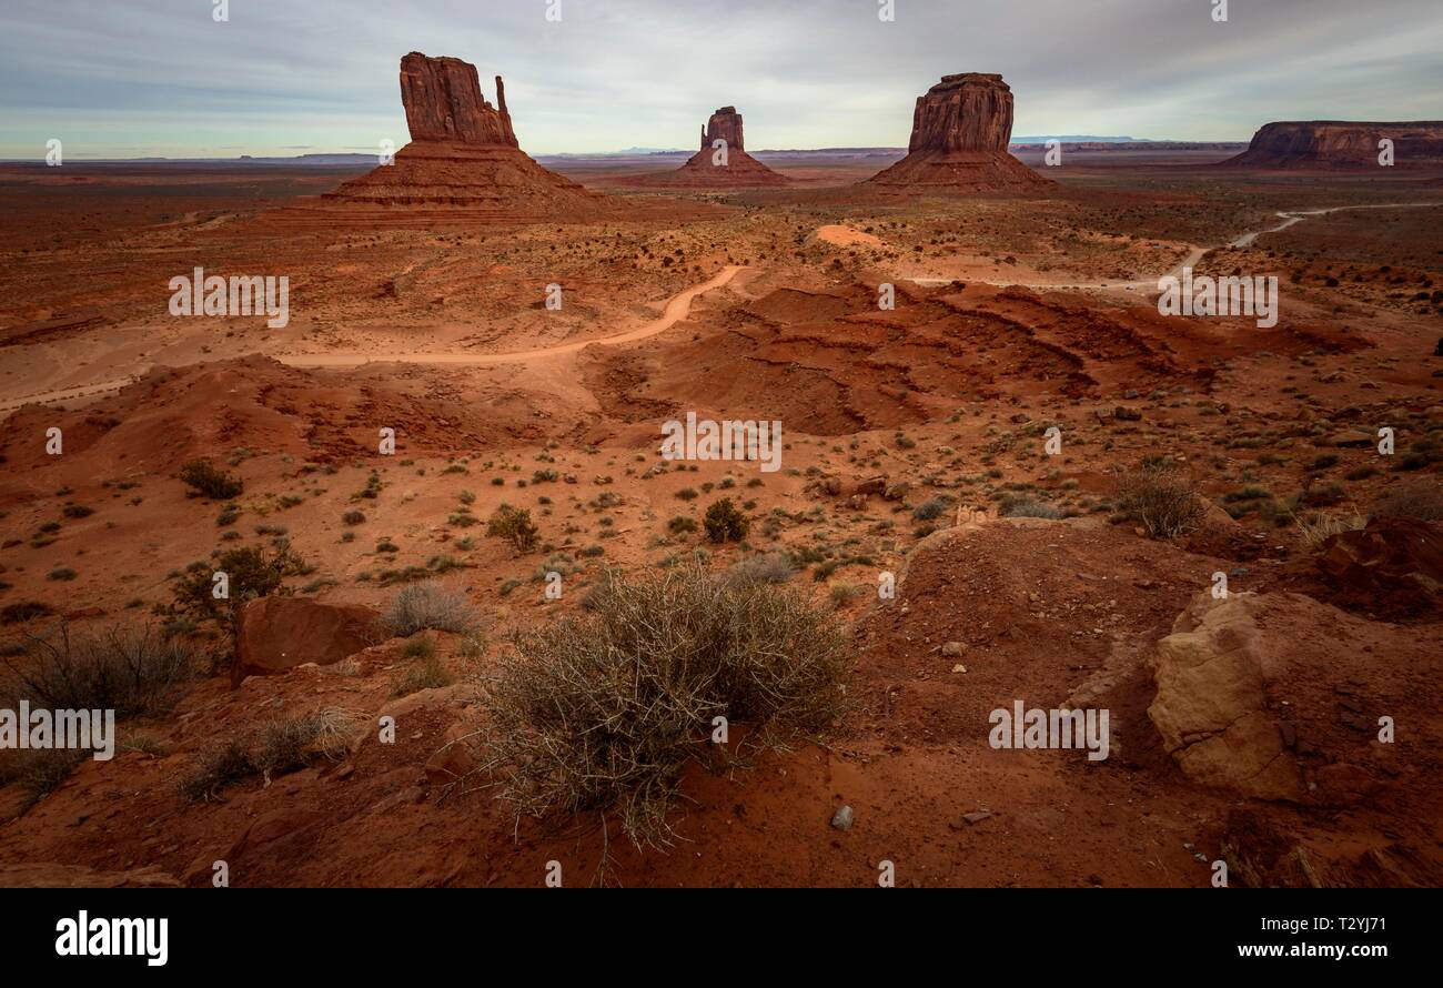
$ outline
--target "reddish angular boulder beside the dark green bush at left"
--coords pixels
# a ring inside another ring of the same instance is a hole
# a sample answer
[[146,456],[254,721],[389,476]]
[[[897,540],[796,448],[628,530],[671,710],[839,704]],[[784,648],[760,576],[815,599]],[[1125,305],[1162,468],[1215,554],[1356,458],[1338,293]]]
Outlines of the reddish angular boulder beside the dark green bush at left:
[[235,636],[231,687],[315,662],[332,665],[377,639],[369,607],[322,604],[306,597],[261,597],[245,604]]

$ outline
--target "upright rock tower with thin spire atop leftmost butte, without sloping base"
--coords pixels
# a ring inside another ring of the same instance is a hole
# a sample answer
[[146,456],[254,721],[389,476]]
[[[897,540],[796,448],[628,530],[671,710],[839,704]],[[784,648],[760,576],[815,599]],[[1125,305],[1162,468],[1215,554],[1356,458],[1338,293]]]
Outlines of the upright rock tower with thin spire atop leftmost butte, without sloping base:
[[499,108],[486,102],[476,66],[469,62],[420,52],[401,59],[401,105],[413,141],[519,147],[499,75],[496,102]]

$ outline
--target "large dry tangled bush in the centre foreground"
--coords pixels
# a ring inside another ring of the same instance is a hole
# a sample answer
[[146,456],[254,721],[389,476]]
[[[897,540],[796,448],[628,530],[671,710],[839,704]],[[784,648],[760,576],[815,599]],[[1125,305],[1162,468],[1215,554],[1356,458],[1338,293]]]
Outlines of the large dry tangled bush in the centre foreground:
[[[615,812],[664,847],[683,770],[828,736],[847,710],[843,629],[792,587],[737,584],[698,564],[610,571],[592,610],[514,638],[489,681],[485,769],[519,816]],[[740,730],[745,725],[745,731]]]

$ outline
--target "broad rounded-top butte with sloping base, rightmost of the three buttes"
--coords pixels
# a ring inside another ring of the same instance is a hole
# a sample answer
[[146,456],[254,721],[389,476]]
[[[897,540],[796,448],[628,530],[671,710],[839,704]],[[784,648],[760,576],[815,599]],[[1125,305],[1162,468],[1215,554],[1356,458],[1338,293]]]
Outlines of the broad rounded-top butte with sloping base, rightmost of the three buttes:
[[908,156],[867,183],[898,192],[1026,192],[1051,186],[1007,153],[1010,137],[1012,89],[1000,75],[944,75],[916,100]]

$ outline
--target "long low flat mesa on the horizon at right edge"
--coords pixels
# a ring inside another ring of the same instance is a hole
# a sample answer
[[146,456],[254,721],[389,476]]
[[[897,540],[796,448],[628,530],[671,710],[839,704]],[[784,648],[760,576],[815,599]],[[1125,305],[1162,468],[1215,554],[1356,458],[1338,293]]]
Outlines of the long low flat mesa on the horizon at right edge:
[[1255,169],[1359,170],[1380,167],[1380,141],[1392,141],[1392,167],[1443,164],[1443,121],[1359,123],[1342,120],[1264,124],[1248,150],[1222,162]]

